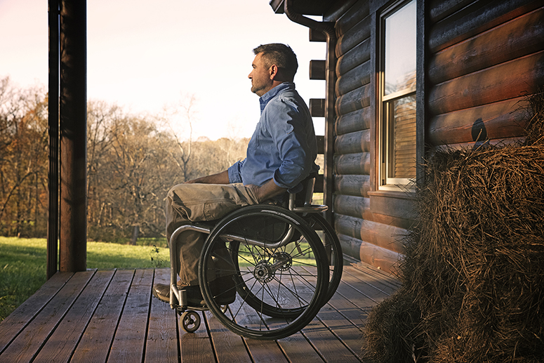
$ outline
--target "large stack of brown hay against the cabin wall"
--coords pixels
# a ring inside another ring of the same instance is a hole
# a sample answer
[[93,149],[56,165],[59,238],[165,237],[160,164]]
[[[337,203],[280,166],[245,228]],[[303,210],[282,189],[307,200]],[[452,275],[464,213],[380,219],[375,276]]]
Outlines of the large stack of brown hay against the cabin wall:
[[529,104],[523,145],[427,161],[402,289],[366,326],[375,362],[544,362],[543,93]]

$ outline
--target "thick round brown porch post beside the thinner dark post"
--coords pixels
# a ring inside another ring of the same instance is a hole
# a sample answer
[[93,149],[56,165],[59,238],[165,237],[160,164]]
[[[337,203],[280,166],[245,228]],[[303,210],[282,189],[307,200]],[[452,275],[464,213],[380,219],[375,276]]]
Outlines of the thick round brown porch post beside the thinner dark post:
[[60,0],[60,271],[87,266],[86,0]]

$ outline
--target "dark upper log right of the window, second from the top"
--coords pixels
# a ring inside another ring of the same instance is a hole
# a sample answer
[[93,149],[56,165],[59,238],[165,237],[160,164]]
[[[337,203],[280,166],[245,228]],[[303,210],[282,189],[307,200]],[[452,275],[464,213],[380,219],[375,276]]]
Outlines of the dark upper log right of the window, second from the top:
[[540,7],[540,1],[475,1],[457,13],[437,22],[430,29],[429,47],[432,53],[485,32],[497,25],[529,13]]

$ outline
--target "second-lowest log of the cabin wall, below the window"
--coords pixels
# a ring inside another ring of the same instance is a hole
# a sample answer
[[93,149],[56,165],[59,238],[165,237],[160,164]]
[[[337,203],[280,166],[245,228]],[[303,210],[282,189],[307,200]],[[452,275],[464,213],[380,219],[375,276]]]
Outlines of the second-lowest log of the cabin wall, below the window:
[[363,242],[397,253],[403,253],[402,237],[408,234],[408,230],[403,228],[338,213],[335,213],[334,229],[342,235],[361,239]]

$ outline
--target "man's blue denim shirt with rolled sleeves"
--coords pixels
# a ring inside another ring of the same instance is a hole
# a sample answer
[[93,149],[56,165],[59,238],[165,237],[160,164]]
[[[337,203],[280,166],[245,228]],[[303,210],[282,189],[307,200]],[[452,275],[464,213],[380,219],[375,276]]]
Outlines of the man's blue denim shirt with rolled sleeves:
[[310,110],[285,82],[265,93],[260,101],[260,120],[248,143],[246,159],[228,169],[230,183],[261,186],[274,179],[290,192],[302,189],[300,182],[317,172],[314,124]]

